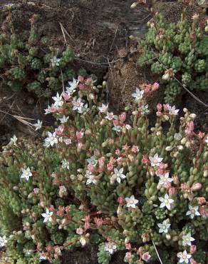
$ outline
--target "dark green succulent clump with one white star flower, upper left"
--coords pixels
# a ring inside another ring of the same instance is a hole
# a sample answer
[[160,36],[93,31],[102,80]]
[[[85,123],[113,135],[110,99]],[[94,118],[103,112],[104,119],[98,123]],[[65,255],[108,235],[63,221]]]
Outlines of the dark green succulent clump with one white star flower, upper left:
[[63,52],[50,47],[46,36],[38,36],[36,15],[30,21],[30,35],[27,41],[22,41],[14,30],[9,9],[0,34],[1,84],[12,91],[25,88],[48,97],[74,77],[71,66],[74,54],[71,46],[66,46]]

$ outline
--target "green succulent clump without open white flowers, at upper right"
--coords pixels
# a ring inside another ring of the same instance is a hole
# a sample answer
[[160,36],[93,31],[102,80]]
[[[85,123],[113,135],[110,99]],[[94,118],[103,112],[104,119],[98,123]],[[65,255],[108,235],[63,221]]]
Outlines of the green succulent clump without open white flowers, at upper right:
[[182,14],[180,21],[169,23],[162,14],[155,14],[147,25],[149,31],[140,41],[143,53],[137,64],[148,65],[152,73],[162,76],[165,103],[174,103],[182,86],[207,91],[208,20],[202,24],[195,14],[189,24]]

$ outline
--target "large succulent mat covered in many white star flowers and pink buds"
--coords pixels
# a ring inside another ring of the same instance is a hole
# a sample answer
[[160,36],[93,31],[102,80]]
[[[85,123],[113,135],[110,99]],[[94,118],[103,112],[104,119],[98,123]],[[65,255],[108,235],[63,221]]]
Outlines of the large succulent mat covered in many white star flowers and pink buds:
[[0,160],[1,263],[61,263],[62,250],[89,243],[100,264],[120,250],[126,263],[154,263],[155,248],[166,264],[206,263],[207,134],[194,132],[194,113],[184,108],[179,125],[179,110],[160,103],[150,127],[145,98],[158,88],[137,88],[115,115],[105,82],[79,76],[46,108],[58,125],[43,143],[11,139]]

